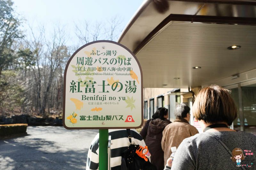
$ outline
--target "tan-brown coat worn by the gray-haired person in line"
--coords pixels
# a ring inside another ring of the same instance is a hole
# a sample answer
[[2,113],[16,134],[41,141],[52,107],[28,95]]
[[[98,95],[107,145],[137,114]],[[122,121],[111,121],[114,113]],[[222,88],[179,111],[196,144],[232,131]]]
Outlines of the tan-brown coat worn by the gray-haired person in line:
[[164,151],[164,165],[166,165],[167,159],[172,154],[171,147],[176,146],[178,148],[183,139],[196,135],[197,133],[198,130],[185,119],[176,119],[174,122],[168,124],[164,128],[161,142]]

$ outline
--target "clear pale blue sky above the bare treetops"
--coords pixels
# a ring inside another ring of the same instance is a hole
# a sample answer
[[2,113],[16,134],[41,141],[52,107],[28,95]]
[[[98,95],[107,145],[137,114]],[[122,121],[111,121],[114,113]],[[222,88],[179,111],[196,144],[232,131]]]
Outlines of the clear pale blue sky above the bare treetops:
[[[69,36],[68,45],[77,44],[75,23],[106,22],[114,16],[121,20],[118,32],[130,21],[143,0],[13,0],[14,9],[24,18],[23,29],[45,26],[47,36],[53,27],[64,26]],[[119,35],[120,35],[119,33]],[[116,41],[116,40],[115,40]]]

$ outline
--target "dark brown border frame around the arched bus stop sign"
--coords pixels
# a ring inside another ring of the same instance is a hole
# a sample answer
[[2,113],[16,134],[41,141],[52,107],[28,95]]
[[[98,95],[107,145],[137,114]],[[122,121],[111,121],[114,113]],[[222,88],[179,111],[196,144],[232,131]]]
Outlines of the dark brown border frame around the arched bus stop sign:
[[[94,43],[99,43],[99,42],[106,42],[106,43],[113,43],[113,44],[116,44],[118,46],[121,46],[122,48],[126,49],[135,59],[135,61],[137,62],[138,66],[139,66],[139,69],[140,69],[140,82],[141,82],[141,123],[139,126],[137,127],[67,127],[65,125],[65,107],[66,107],[66,76],[67,76],[67,70],[68,70],[68,66],[71,62],[71,60],[73,59],[73,57],[81,50],[83,49],[84,47],[86,46],[89,46],[91,44],[94,44]],[[98,41],[92,41],[92,42],[89,42],[85,45],[83,45],[82,47],[78,48],[74,53],[73,55],[71,55],[71,57],[68,59],[68,63],[66,64],[66,67],[65,67],[65,71],[64,71],[64,86],[63,86],[63,116],[62,116],[62,125],[64,128],[66,129],[137,129],[137,128],[140,128],[142,125],[143,125],[143,75],[142,75],[142,69],[141,69],[141,66],[140,66],[140,63],[139,63],[139,60],[137,59],[137,57],[133,54],[133,52],[128,49],[127,47],[125,47],[124,45],[118,43],[118,42],[115,42],[115,41],[109,41],[109,40],[98,40]]]

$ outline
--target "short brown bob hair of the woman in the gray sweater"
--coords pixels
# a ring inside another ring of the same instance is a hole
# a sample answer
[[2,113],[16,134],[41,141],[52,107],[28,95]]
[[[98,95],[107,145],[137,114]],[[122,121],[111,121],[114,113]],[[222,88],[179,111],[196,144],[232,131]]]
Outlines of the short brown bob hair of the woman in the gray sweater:
[[227,122],[231,125],[237,117],[237,109],[230,91],[218,85],[201,89],[192,107],[197,120],[206,123]]

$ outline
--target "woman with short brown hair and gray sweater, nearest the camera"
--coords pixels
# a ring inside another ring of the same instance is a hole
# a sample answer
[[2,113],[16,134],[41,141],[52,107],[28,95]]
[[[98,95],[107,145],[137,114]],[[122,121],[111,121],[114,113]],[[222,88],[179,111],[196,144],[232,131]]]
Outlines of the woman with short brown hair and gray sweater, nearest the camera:
[[[256,169],[256,136],[228,128],[237,117],[235,102],[229,90],[218,85],[201,89],[192,112],[204,133],[184,139],[173,161],[170,158],[167,160],[165,170]],[[248,153],[244,160],[241,159],[241,166],[237,166],[230,159],[234,148],[253,154]]]

